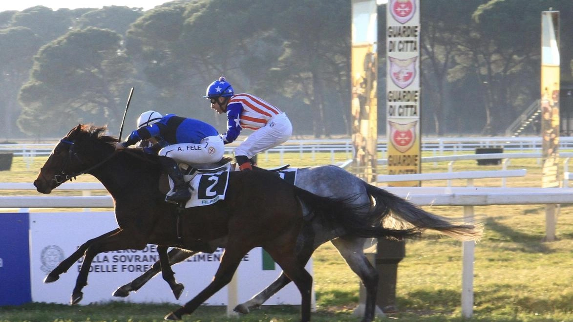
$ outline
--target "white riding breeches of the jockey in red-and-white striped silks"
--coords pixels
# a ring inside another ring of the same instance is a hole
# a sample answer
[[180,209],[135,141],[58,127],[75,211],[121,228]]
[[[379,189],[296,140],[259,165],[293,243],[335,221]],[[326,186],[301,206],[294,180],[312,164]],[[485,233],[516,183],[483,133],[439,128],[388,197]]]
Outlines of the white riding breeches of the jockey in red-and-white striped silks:
[[288,141],[292,135],[291,121],[285,113],[277,114],[269,119],[264,127],[257,129],[248,136],[237,148],[235,155],[245,155],[253,158],[262,151],[269,150]]

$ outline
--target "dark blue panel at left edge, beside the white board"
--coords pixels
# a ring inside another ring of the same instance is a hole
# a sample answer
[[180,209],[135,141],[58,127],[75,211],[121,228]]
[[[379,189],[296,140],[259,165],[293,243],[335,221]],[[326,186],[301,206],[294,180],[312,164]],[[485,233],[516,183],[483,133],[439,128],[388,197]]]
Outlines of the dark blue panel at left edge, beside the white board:
[[0,214],[0,306],[32,301],[28,213]]

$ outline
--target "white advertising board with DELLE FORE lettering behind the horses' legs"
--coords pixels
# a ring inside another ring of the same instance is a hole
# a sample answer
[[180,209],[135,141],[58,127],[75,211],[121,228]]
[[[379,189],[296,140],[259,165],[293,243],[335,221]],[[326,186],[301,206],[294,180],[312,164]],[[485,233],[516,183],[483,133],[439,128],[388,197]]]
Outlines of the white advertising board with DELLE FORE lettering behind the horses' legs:
[[[112,212],[87,213],[32,213],[30,214],[30,266],[32,276],[32,301],[67,304],[74,288],[81,260],[74,263],[67,273],[50,284],[43,280],[64,258],[70,256],[81,244],[117,227]],[[175,278],[185,285],[179,300],[171,293],[167,282],[158,274],[138,292],[125,299],[113,297],[119,287],[138,277],[151,267],[159,256],[155,245],[143,250],[105,252],[96,256],[91,265],[88,285],[83,289],[81,304],[107,301],[134,303],[185,304],[193,299],[212,280],[221,260],[223,250],[213,254],[199,253],[173,266]],[[281,272],[278,265],[264,259],[261,248],[251,250],[241,262],[238,274],[238,300],[247,301],[254,294],[274,281]],[[312,262],[307,264],[312,274]],[[206,305],[226,305],[227,287],[219,290]],[[289,284],[275,294],[265,305],[300,304],[300,293]]]

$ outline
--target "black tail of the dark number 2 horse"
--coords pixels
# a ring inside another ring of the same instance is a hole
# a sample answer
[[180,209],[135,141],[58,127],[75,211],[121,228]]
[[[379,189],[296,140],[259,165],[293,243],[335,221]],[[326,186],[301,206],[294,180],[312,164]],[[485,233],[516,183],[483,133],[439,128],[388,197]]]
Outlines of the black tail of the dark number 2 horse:
[[[418,237],[417,227],[388,229],[380,225],[386,213],[371,211],[371,202],[356,203],[354,195],[348,198],[321,197],[307,190],[295,187],[296,195],[305,212],[312,213],[312,220],[318,219],[338,235],[351,234],[366,238],[403,239]],[[367,214],[367,215],[363,215]]]

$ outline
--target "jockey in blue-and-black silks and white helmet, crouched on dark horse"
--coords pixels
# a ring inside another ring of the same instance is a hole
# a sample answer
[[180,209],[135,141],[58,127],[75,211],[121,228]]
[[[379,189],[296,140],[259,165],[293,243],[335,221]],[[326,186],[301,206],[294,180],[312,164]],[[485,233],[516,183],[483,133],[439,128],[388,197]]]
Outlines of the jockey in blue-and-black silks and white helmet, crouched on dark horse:
[[165,198],[167,202],[185,202],[191,197],[177,163],[214,163],[225,154],[223,140],[212,125],[174,114],[162,116],[156,111],[143,112],[138,119],[138,129],[131,132],[124,142],[117,143],[116,150],[141,140],[154,144],[151,148],[144,147],[148,153],[160,149],[159,161],[174,184]]

